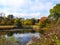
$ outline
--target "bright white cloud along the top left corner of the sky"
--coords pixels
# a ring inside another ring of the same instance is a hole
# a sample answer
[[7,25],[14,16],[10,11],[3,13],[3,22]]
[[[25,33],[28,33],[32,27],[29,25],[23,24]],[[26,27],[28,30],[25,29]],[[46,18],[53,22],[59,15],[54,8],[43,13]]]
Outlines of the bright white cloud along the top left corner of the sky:
[[25,3],[25,0],[0,0],[0,4],[2,5],[21,5]]

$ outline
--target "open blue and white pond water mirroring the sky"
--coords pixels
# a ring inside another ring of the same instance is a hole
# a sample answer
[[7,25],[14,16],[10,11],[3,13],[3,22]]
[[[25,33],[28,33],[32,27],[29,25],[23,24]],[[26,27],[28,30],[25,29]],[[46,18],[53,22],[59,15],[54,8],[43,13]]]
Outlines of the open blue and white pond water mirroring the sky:
[[26,45],[32,39],[32,37],[40,38],[39,33],[18,33],[13,34],[13,36],[10,37],[6,35],[5,37],[7,39],[11,39],[11,37],[14,37],[17,40],[17,45]]

